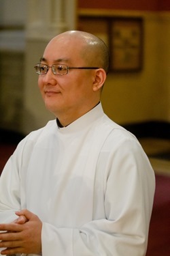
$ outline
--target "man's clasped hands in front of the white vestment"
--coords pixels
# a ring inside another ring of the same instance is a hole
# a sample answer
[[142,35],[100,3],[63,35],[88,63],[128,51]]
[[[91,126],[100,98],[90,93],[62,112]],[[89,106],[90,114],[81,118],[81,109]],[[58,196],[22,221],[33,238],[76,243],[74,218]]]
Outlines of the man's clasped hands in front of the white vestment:
[[16,253],[41,253],[41,229],[40,219],[29,212],[21,210],[16,212],[18,218],[13,223],[0,224],[0,248],[1,255]]

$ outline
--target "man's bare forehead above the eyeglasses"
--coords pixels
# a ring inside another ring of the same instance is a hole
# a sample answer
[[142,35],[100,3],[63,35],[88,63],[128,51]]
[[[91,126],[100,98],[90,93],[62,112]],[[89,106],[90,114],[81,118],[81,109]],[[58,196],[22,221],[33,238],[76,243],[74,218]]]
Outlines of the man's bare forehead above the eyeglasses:
[[82,48],[83,42],[79,38],[57,36],[48,43],[43,57],[47,61],[71,63],[81,60]]

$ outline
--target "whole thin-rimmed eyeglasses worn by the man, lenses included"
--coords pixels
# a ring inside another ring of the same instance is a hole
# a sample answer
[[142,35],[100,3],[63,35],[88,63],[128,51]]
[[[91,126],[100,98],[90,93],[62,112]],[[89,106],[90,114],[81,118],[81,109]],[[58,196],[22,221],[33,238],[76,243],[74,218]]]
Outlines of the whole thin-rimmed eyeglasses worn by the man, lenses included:
[[63,76],[64,74],[68,74],[69,70],[71,69],[76,69],[76,70],[97,70],[97,67],[80,67],[80,68],[73,68],[73,67],[68,67],[67,65],[64,64],[54,64],[52,66],[47,66],[46,64],[36,64],[34,66],[35,72],[37,74],[47,74],[49,68],[52,68],[52,73],[53,74],[59,74]]

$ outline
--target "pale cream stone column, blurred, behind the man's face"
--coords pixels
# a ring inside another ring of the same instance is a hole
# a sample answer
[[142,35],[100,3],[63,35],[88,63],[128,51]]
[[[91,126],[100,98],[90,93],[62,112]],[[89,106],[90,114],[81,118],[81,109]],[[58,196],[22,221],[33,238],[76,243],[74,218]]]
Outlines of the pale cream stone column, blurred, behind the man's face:
[[22,131],[25,134],[54,118],[45,109],[37,87],[38,76],[33,67],[39,62],[51,38],[58,33],[76,29],[76,7],[76,0],[27,0],[22,120]]

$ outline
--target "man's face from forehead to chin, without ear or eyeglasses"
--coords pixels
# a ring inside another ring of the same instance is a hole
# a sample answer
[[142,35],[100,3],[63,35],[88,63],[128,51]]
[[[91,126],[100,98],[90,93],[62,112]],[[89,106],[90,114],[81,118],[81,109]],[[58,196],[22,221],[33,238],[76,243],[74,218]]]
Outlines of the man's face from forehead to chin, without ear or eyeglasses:
[[[56,63],[69,67],[88,66],[80,55],[82,47],[80,40],[58,36],[46,47],[41,63],[48,66]],[[65,75],[56,75],[49,68],[47,74],[39,75],[38,85],[46,108],[59,119],[62,115],[71,115],[72,119],[77,119],[86,113],[87,104],[91,104],[94,94],[94,72],[75,69]]]

